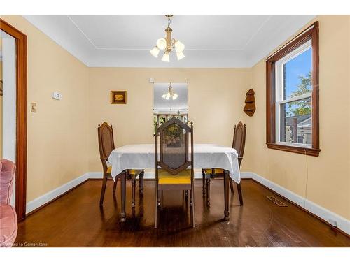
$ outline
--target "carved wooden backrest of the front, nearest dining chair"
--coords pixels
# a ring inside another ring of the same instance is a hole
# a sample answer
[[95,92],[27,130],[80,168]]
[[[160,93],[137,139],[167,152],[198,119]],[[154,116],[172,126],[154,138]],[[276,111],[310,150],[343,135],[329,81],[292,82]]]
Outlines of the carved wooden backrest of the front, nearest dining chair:
[[193,122],[188,126],[176,117],[172,117],[160,127],[156,126],[155,134],[157,170],[160,166],[172,175],[176,175],[186,170],[188,166],[193,168]]

